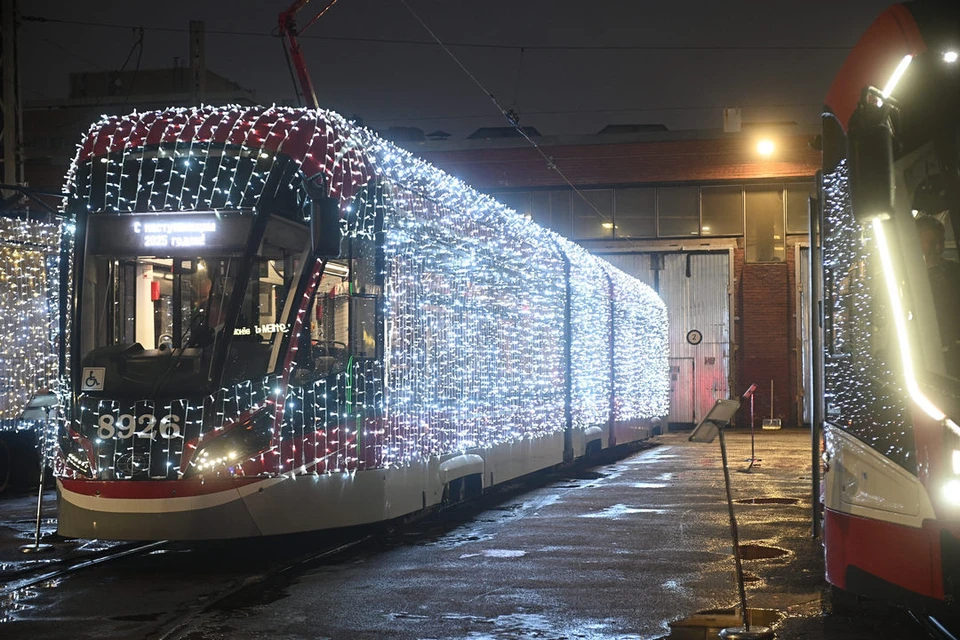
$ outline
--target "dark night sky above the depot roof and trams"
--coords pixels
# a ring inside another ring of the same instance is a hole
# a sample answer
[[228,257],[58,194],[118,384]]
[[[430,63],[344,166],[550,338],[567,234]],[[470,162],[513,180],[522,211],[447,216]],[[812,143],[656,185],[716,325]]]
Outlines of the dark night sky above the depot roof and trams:
[[[300,24],[329,0],[314,0]],[[406,4],[405,4],[406,2]],[[607,124],[816,124],[830,79],[888,0],[339,0],[301,39],[322,107],[372,127],[465,137],[505,119],[408,9],[520,123],[544,135]],[[270,33],[287,0],[114,2],[20,0],[22,95],[67,97],[71,71],[187,64],[189,21],[206,27],[207,66],[292,103],[283,50]],[[82,24],[81,24],[82,23]],[[142,53],[135,46],[143,26]],[[397,42],[405,41],[405,42]],[[484,45],[484,46],[463,46]],[[523,50],[521,51],[521,48]],[[129,59],[128,59],[129,57]]]

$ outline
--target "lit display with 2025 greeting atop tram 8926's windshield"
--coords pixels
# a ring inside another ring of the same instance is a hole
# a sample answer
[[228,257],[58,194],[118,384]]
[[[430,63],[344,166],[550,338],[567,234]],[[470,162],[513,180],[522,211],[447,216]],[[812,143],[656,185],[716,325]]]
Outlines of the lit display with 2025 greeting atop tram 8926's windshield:
[[93,214],[87,220],[87,251],[116,256],[240,255],[252,220],[252,215],[235,211]]

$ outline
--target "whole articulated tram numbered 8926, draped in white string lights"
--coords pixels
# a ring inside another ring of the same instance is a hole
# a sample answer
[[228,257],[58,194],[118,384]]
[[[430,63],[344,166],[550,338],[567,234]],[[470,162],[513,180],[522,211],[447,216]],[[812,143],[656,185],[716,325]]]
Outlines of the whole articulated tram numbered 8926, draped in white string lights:
[[652,289],[333,112],[105,117],[64,191],[62,535],[389,520],[667,414]]

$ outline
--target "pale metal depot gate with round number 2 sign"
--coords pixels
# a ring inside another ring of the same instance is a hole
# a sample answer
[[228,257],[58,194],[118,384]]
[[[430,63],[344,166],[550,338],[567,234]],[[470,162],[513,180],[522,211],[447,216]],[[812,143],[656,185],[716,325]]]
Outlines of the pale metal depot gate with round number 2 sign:
[[[730,256],[722,253],[605,255],[616,267],[659,288],[670,319],[670,417],[697,423],[717,398],[729,397]],[[662,260],[662,262],[659,262]],[[652,266],[662,265],[657,285]],[[699,331],[699,344],[687,335]]]

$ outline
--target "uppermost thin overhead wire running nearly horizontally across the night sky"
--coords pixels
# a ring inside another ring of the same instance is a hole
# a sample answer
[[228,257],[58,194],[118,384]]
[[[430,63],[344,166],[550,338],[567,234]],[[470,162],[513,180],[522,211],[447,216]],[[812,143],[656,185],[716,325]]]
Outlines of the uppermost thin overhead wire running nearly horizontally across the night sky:
[[[109,22],[89,22],[83,20],[64,20],[43,16],[21,16],[27,22],[69,24],[82,27],[103,27],[108,29],[136,29],[139,25],[117,24]],[[182,27],[146,27],[148,31],[170,33],[189,33]],[[206,29],[208,35],[251,36],[275,38],[276,34],[264,31],[232,31],[228,29]],[[436,46],[434,40],[415,40],[402,38],[365,38],[354,36],[298,35],[302,40],[327,40],[330,42],[364,42],[371,44],[398,44],[414,46]],[[504,49],[528,51],[850,51],[852,46],[811,46],[811,45],[529,45],[529,44],[491,44],[484,42],[447,42],[447,47],[473,49]]]

